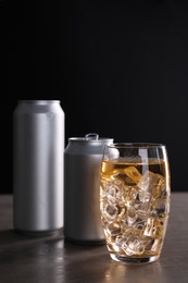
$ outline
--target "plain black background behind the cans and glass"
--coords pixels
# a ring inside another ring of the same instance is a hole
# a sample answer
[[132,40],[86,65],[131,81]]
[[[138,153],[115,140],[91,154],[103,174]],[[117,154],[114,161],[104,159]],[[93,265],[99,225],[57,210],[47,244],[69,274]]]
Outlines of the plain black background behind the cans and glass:
[[1,7],[1,193],[12,193],[18,99],[60,99],[65,144],[93,132],[115,142],[165,144],[172,190],[188,190],[188,3],[38,0]]

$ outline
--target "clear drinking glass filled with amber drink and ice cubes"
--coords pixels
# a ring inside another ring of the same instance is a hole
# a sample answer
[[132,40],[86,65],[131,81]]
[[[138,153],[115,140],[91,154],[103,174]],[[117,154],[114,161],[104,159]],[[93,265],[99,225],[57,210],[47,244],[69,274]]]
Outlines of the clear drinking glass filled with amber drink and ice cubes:
[[113,260],[159,259],[171,202],[165,145],[120,143],[105,146],[100,177],[100,211]]

